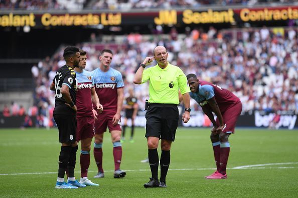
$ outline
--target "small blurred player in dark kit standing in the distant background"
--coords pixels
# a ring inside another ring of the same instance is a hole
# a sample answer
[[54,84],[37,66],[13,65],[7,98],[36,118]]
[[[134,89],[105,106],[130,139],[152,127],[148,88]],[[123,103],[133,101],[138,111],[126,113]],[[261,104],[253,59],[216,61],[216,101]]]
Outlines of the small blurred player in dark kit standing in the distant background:
[[127,126],[127,119],[131,119],[131,132],[130,132],[130,139],[129,141],[133,142],[133,132],[134,132],[134,119],[137,114],[137,99],[134,97],[133,88],[128,89],[129,96],[124,100],[124,110],[125,110],[125,117],[123,123],[123,130],[122,130],[122,139],[121,141],[125,140],[125,128]]

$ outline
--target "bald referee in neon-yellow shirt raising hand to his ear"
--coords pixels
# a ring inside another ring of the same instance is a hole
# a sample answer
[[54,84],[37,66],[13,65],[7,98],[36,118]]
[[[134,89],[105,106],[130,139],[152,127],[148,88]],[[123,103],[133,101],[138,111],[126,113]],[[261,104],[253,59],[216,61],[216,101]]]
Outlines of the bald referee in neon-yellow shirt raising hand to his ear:
[[[182,119],[185,123],[190,119],[190,88],[183,71],[168,62],[168,51],[164,46],[153,50],[154,57],[146,57],[137,69],[133,82],[149,83],[149,107],[146,112],[146,134],[148,159],[152,177],[144,187],[167,187],[166,176],[170,165],[170,149],[178,126],[179,90],[183,95],[185,112]],[[144,70],[153,60],[157,65]],[[158,179],[159,154],[157,151],[161,141],[161,177]]]

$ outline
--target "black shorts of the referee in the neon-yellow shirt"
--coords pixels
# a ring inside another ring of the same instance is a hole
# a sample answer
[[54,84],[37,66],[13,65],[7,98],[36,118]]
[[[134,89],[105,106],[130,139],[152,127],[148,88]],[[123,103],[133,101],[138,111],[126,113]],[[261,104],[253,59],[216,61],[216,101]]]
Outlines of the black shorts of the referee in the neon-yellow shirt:
[[179,112],[177,104],[150,103],[146,112],[145,137],[175,140]]

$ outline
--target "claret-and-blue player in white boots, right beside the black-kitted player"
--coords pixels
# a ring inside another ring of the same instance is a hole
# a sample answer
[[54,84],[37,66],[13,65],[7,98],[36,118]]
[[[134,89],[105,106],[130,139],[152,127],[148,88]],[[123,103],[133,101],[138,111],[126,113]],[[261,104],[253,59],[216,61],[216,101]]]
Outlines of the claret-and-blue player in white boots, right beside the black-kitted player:
[[[94,136],[94,118],[97,119],[97,112],[101,113],[103,108],[99,103],[98,96],[94,88],[94,79],[91,72],[84,70],[86,67],[86,51],[80,49],[81,61],[79,67],[74,68],[77,80],[77,142],[81,140],[81,179],[80,183],[85,185],[99,185],[93,183],[87,177],[90,165],[90,145]],[[92,102],[96,109],[93,109]]]

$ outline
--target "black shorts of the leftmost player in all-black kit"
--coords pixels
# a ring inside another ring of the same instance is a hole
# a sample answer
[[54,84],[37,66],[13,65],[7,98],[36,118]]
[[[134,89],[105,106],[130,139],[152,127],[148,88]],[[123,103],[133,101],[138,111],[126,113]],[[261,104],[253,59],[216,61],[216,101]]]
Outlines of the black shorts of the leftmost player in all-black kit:
[[55,122],[59,130],[59,142],[73,143],[77,140],[76,128],[77,119],[76,115],[54,114]]

